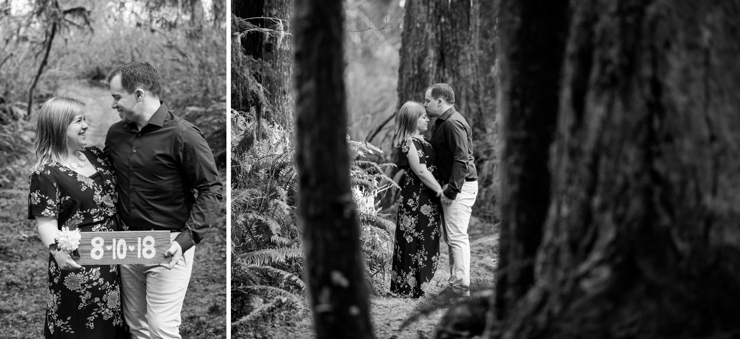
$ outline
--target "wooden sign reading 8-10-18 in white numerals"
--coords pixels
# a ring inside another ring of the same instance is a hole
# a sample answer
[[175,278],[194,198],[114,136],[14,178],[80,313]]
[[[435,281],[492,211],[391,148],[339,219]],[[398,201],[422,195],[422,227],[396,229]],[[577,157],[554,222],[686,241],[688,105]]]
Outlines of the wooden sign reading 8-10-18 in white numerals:
[[170,246],[166,230],[80,232],[77,251],[81,265],[169,263],[164,252]]

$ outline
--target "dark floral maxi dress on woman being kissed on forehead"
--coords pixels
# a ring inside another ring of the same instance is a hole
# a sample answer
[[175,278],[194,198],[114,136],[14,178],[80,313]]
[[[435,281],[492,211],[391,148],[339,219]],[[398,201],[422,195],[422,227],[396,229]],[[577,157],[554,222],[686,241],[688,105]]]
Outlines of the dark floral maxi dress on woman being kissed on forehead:
[[437,176],[431,144],[416,137],[403,140],[397,165],[406,170],[406,179],[398,206],[391,292],[419,298],[424,295],[424,285],[434,277],[440,258],[440,198],[411,171],[407,157],[410,143],[417,149],[419,162]]

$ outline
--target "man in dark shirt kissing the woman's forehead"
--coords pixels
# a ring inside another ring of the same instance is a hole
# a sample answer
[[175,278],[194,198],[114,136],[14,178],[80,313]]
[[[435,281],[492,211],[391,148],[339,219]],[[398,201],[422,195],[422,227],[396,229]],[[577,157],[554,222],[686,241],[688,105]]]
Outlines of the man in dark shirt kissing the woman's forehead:
[[443,292],[448,297],[470,297],[470,242],[468,223],[478,195],[478,174],[473,157],[471,128],[454,108],[455,92],[446,83],[426,89],[427,115],[437,117],[431,145],[437,154],[445,243],[450,256],[450,279]]

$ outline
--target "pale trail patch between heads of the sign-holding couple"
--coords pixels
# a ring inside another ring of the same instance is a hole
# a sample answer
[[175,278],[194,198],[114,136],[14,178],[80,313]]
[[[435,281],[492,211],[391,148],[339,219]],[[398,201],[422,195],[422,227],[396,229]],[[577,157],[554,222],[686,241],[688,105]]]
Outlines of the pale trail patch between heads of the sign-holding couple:
[[110,108],[112,98],[106,87],[92,86],[86,81],[70,81],[59,86],[56,95],[72,97],[85,103],[87,114],[87,145],[103,149],[108,128],[121,120],[118,112]]

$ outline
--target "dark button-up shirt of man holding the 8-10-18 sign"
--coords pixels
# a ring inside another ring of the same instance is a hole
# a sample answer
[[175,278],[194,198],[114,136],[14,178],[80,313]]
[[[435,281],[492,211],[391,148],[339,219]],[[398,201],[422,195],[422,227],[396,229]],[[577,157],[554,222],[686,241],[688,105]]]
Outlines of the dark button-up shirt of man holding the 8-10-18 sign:
[[181,231],[183,252],[211,227],[221,202],[211,148],[192,123],[164,103],[138,130],[135,123],[110,126],[105,154],[118,177],[118,213],[128,227]]

